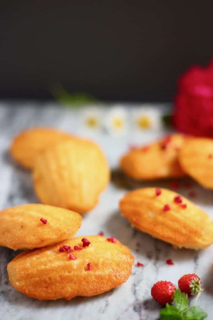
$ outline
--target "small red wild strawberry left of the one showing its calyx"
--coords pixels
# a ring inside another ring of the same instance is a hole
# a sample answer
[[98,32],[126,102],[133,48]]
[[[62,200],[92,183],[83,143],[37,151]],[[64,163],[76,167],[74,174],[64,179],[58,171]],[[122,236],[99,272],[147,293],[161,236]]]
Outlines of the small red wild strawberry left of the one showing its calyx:
[[161,306],[164,306],[167,302],[172,302],[175,290],[175,285],[170,281],[158,281],[153,285],[151,295]]

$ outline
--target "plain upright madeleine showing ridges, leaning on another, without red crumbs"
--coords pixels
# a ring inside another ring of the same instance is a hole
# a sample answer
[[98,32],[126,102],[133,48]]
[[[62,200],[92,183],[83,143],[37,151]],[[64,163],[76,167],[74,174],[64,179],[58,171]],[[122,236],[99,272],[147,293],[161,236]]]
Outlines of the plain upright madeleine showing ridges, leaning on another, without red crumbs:
[[42,203],[85,213],[98,202],[110,172],[99,146],[76,138],[44,150],[36,158],[33,177]]

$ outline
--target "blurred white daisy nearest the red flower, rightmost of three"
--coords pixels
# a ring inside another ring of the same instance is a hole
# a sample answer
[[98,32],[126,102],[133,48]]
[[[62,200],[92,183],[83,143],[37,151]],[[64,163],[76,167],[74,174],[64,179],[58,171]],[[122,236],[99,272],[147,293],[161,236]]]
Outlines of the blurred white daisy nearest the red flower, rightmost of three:
[[162,127],[162,112],[157,108],[144,106],[133,110],[133,127],[136,130],[158,130]]

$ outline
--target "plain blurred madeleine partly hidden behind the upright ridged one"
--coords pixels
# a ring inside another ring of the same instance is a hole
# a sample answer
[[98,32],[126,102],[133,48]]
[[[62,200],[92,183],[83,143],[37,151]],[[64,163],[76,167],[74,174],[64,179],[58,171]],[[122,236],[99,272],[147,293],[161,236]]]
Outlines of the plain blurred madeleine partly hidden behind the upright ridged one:
[[71,139],[56,129],[35,127],[19,133],[12,141],[11,156],[22,166],[32,169],[37,154],[58,142]]

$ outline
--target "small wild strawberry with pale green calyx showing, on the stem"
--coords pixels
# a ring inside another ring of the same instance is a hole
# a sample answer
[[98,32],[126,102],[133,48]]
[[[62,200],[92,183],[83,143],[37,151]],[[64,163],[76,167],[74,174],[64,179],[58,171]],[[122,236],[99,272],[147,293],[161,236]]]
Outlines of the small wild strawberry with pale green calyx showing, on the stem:
[[179,289],[182,292],[187,293],[189,297],[191,295],[195,296],[202,290],[201,284],[201,279],[197,275],[195,275],[195,273],[184,275],[178,280]]

